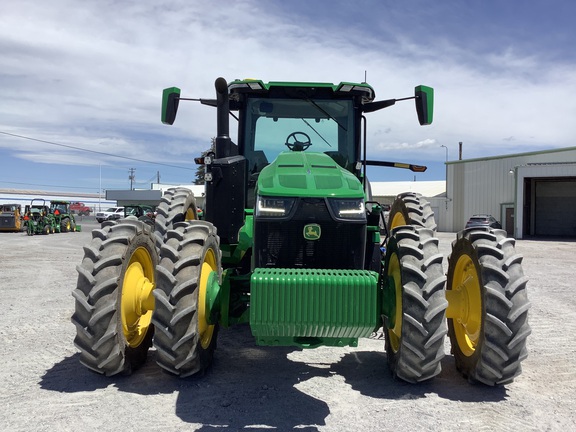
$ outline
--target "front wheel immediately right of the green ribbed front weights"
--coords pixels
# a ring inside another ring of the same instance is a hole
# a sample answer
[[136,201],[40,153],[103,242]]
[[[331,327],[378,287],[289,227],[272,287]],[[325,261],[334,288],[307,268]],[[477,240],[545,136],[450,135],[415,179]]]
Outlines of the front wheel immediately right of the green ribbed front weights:
[[384,271],[385,302],[392,310],[384,320],[392,376],[411,383],[428,380],[441,371],[447,332],[446,277],[434,232],[413,226],[394,230]]

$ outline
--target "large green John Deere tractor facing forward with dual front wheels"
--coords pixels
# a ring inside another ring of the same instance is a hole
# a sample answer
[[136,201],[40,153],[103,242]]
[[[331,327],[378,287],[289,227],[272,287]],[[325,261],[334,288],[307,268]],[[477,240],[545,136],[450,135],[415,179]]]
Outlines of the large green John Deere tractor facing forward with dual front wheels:
[[[447,277],[430,204],[397,197],[384,223],[366,166],[366,114],[413,99],[432,122],[433,90],[375,101],[366,83],[218,78],[215,151],[203,220],[192,192],[165,192],[155,229],[124,219],[92,232],[73,291],[80,361],[115,375],[158,364],[186,377],[211,364],[220,327],[248,323],[264,346],[357,346],[383,329],[394,377],[440,373],[448,334],[471,381],[511,382],[526,357],[529,302],[522,257],[495,229],[458,234]],[[162,122],[180,97],[164,90]],[[238,143],[229,119],[238,122]]]

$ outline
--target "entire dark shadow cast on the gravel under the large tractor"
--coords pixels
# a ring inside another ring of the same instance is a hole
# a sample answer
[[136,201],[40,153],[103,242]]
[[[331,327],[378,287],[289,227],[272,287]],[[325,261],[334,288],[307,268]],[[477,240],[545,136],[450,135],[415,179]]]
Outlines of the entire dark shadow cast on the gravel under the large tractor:
[[86,369],[79,354],[74,354],[47,370],[40,386],[64,393],[110,386],[141,395],[176,393],[175,414],[184,422],[202,424],[201,431],[259,430],[262,425],[316,431],[326,424],[330,408],[323,400],[298,390],[297,385],[334,375],[375,399],[408,400],[436,394],[460,402],[497,402],[507,397],[505,387],[468,383],[456,371],[450,355],[442,361],[441,374],[428,382],[394,380],[383,345],[382,341],[379,350],[346,352],[332,363],[306,363],[289,358],[290,353],[300,351],[297,348],[255,346],[249,327],[241,325],[221,331],[212,368],[204,376],[180,379],[163,373],[151,350],[144,367],[131,376],[106,378]]

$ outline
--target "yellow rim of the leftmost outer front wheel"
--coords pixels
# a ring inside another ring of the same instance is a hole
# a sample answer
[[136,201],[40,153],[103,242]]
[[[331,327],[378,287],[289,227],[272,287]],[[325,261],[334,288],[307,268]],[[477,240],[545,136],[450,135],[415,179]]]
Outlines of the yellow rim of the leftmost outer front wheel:
[[122,330],[132,348],[142,343],[152,321],[154,283],[152,257],[146,248],[139,247],[130,257],[122,281]]

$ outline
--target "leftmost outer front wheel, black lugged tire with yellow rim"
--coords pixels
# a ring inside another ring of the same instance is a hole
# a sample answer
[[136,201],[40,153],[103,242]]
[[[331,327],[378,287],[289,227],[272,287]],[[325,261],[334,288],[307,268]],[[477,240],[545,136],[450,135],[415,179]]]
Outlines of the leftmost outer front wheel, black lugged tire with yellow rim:
[[129,374],[145,362],[154,333],[154,299],[148,293],[144,300],[142,290],[152,289],[157,263],[152,232],[138,221],[92,231],[72,292],[74,344],[84,366],[112,376]]

